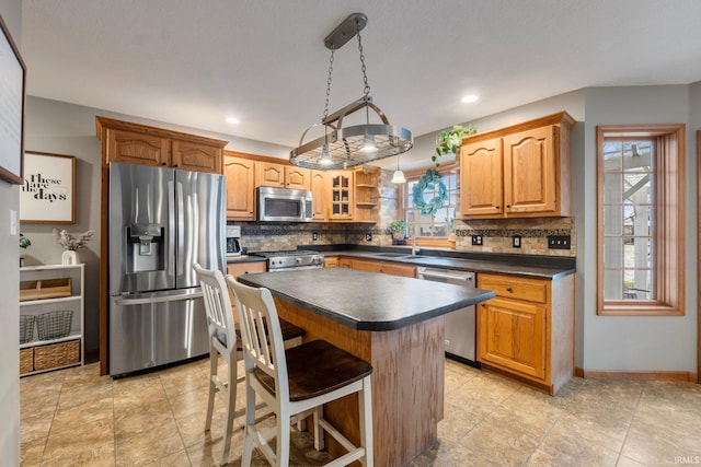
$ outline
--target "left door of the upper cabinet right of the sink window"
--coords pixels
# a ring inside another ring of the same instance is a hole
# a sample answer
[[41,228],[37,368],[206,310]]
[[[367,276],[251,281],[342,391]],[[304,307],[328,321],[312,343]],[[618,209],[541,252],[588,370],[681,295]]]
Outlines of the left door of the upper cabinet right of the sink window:
[[467,143],[460,148],[460,210],[463,217],[501,217],[502,140]]

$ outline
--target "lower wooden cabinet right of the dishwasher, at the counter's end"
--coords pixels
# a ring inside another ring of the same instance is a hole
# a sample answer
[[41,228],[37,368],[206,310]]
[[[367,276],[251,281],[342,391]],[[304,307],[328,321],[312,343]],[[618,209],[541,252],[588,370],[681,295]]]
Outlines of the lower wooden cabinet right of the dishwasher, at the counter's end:
[[478,360],[556,393],[574,371],[574,275],[554,280],[479,273],[496,297],[478,305]]

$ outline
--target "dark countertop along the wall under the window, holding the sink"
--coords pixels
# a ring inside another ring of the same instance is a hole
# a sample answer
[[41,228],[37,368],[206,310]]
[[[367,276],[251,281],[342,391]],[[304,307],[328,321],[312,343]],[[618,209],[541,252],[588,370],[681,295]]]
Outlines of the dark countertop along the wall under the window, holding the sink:
[[[464,254],[460,252],[422,248],[411,257],[411,248],[384,247],[379,249],[323,249],[325,256],[350,256],[364,259],[393,261],[414,266],[457,269],[472,272],[495,272],[536,279],[559,279],[576,271],[575,258],[542,257],[533,255]],[[407,256],[387,256],[402,255]],[[453,256],[448,256],[453,255]]]

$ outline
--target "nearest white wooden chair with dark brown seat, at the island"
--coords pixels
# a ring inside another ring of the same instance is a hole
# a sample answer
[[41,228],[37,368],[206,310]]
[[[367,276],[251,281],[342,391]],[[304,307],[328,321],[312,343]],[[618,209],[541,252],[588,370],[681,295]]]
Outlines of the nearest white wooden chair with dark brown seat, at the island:
[[[314,447],[323,448],[325,431],[347,451],[327,465],[359,460],[372,466],[372,366],[323,340],[304,342],[286,351],[271,291],[244,285],[231,276],[227,277],[227,284],[235,297],[244,352],[246,406],[241,465],[251,465],[256,446],[272,465],[287,466],[290,422],[311,413]],[[269,338],[261,326],[263,320],[268,324]],[[323,418],[324,404],[354,393],[358,394],[360,446],[350,443]],[[275,428],[256,427],[256,395],[275,412]],[[275,452],[268,444],[274,436],[277,437]]]

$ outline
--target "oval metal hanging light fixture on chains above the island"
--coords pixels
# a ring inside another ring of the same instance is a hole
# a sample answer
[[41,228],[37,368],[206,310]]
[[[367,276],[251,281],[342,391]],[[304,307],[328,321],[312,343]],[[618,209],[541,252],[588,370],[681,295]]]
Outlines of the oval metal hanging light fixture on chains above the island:
[[[299,140],[299,148],[290,151],[289,162],[291,164],[321,170],[346,168],[401,154],[414,145],[412,132],[406,128],[390,125],[384,113],[372,103],[372,97],[369,95],[370,85],[368,84],[360,38],[360,30],[365,27],[367,21],[365,14],[353,13],[324,39],[324,45],[331,50],[324,114],[321,122],[313,124],[304,130]],[[356,35],[360,52],[360,70],[363,71],[363,97],[329,115],[334,51]],[[365,125],[343,127],[343,119],[346,116],[363,109],[365,109]],[[370,124],[370,109],[382,120],[381,124]],[[309,130],[317,126],[324,127],[324,135],[313,141],[304,142]]]

